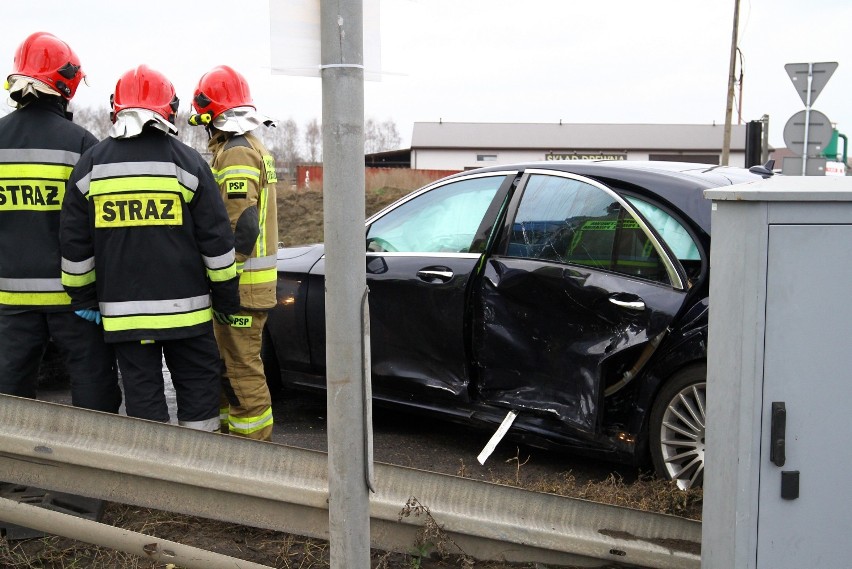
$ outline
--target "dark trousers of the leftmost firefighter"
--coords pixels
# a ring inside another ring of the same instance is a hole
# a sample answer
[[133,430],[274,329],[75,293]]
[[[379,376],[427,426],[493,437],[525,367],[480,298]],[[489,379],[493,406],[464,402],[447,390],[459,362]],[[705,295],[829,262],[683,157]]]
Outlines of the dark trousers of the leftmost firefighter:
[[112,346],[99,325],[73,312],[0,314],[0,393],[37,396],[39,363],[51,339],[71,376],[71,403],[116,413],[121,389]]

